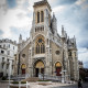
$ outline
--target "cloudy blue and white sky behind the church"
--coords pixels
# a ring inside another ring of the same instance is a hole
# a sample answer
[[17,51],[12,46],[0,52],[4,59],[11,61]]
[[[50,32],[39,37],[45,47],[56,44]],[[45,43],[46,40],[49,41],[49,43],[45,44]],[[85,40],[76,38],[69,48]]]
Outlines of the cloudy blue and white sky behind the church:
[[[30,37],[33,4],[40,0],[0,0],[0,40]],[[64,25],[67,35],[76,37],[78,59],[88,68],[88,0],[47,0],[57,19],[61,35]]]

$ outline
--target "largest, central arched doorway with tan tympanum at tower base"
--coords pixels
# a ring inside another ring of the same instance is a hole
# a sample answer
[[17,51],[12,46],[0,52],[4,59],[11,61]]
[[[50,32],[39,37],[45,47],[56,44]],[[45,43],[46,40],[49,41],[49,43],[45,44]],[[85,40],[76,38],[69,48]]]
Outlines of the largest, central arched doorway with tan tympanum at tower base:
[[35,77],[38,77],[38,74],[44,74],[44,63],[42,61],[37,61],[34,68]]

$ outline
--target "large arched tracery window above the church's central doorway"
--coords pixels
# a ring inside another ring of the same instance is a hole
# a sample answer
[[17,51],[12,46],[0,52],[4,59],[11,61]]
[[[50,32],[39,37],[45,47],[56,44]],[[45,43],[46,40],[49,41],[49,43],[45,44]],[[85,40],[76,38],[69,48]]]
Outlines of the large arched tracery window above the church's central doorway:
[[36,54],[45,53],[45,43],[42,37],[38,37],[36,41],[35,53]]

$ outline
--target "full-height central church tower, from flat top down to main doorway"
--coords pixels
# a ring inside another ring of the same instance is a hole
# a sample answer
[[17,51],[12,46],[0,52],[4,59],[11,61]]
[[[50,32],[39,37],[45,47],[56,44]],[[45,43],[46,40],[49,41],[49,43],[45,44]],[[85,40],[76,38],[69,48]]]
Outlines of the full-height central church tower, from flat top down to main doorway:
[[[50,32],[52,28],[52,9],[47,0],[35,2],[33,6],[33,22],[31,29],[30,69],[33,76],[37,76],[38,72],[52,74],[52,55],[50,54]],[[51,61],[51,62],[50,62]],[[40,65],[41,68],[38,67]],[[50,72],[48,72],[50,70]]]

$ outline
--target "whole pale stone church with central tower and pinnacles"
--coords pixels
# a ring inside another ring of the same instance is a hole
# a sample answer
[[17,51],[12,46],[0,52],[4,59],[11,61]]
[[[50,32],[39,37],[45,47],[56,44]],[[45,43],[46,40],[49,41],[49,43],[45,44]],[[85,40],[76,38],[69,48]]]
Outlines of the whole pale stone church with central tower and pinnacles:
[[57,20],[52,15],[47,0],[35,2],[33,6],[33,22],[30,37],[26,41],[19,37],[14,74],[37,77],[38,74],[48,76],[66,76],[78,80],[78,56],[76,38],[69,38],[64,26],[62,35],[57,33]]

